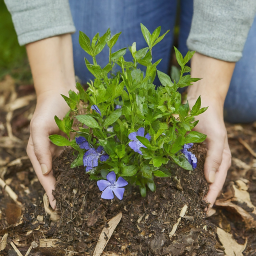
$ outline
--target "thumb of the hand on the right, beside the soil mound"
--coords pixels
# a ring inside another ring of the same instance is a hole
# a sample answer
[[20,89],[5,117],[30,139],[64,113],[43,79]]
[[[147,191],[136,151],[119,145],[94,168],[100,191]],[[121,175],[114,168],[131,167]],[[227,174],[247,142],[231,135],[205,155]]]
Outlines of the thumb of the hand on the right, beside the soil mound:
[[218,134],[207,141],[207,154],[204,162],[204,176],[209,183],[215,180],[215,174],[222,162],[225,134]]

